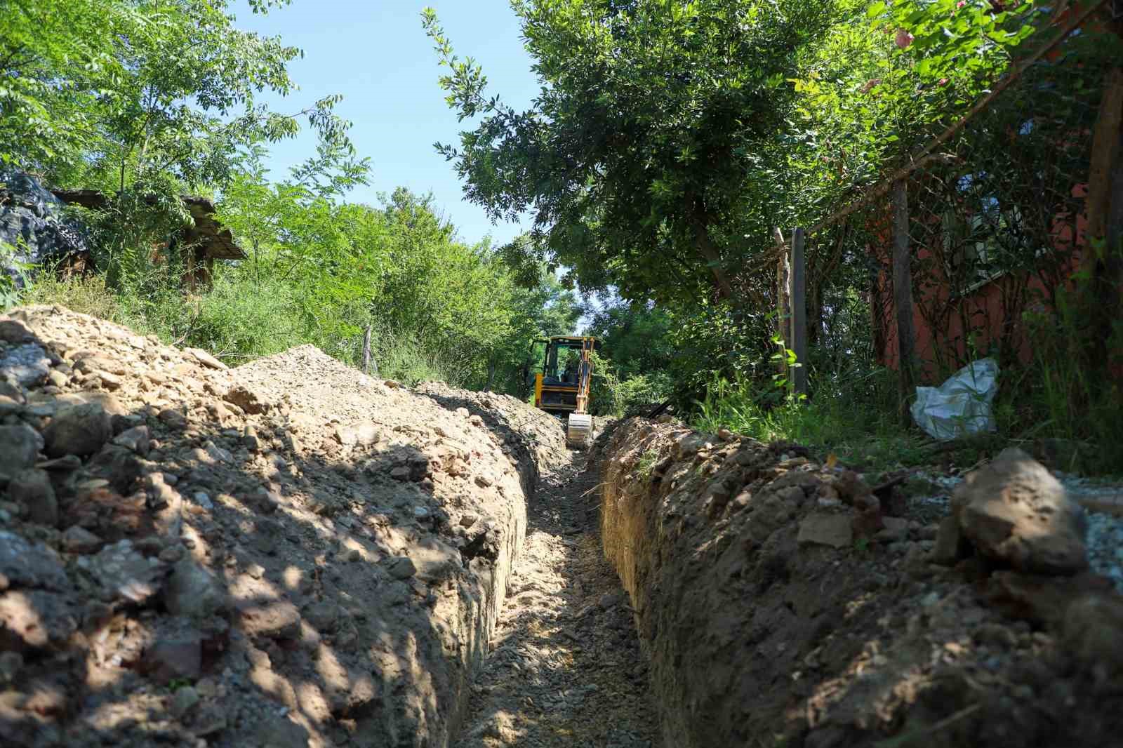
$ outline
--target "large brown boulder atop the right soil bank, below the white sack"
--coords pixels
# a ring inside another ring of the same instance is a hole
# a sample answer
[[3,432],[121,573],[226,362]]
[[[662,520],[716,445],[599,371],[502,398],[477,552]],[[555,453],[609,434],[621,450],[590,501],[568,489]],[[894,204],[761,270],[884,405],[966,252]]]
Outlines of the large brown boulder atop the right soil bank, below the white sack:
[[1038,574],[1088,566],[1084,509],[1020,449],[1006,449],[971,474],[952,498],[964,535],[995,562]]

